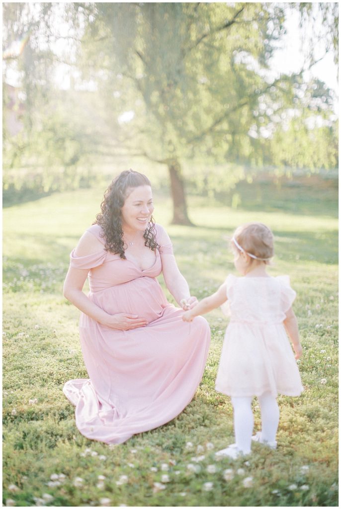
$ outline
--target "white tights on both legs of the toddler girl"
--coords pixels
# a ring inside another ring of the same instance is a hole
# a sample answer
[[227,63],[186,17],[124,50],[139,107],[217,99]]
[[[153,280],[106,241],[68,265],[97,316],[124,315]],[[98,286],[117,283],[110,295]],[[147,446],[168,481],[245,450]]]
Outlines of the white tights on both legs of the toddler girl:
[[[238,449],[244,454],[251,450],[251,436],[253,430],[252,397],[231,398],[234,410],[235,439]],[[265,392],[258,396],[262,417],[262,441],[274,442],[276,438],[279,408],[276,398]]]

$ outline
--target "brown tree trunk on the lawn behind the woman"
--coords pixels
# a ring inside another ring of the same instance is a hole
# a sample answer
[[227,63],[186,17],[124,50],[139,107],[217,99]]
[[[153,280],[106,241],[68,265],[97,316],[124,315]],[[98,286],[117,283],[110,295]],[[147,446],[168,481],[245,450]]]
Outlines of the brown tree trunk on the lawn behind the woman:
[[187,215],[186,194],[184,181],[180,173],[180,164],[176,159],[167,161],[169,177],[171,178],[171,191],[173,200],[172,224],[185,224],[193,226]]

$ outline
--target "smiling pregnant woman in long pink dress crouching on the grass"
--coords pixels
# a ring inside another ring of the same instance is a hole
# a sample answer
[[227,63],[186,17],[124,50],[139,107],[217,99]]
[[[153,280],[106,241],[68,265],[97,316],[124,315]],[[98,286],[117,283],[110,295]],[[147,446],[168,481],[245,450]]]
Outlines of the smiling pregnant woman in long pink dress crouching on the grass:
[[[80,433],[101,442],[122,443],[172,420],[204,372],[210,329],[202,317],[182,320],[197,299],[153,210],[148,178],[122,172],[70,255],[64,295],[81,311],[89,379],[70,380],[63,390]],[[161,272],[181,308],[167,302],[156,279]]]

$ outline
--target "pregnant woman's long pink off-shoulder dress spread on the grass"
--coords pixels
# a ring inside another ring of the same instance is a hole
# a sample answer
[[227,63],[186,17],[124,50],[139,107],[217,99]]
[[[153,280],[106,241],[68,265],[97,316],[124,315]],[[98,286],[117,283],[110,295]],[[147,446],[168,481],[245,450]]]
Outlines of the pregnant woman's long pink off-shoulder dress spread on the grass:
[[119,254],[104,250],[101,227],[88,232],[103,248],[95,254],[70,254],[70,265],[89,269],[88,297],[109,314],[131,313],[148,325],[131,330],[106,327],[81,313],[80,344],[89,379],[70,380],[64,393],[75,405],[76,426],[84,436],[122,443],[175,418],[199,385],[210,344],[203,317],[182,321],[183,310],[167,302],[156,277],[160,252],[173,256],[172,243],[156,224],[155,263],[141,270]]

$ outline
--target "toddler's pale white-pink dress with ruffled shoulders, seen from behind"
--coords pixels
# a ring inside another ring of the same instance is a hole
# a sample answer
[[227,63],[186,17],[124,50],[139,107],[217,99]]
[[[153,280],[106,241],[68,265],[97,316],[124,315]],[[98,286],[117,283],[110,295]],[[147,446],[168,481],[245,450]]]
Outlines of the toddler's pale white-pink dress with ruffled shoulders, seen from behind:
[[[302,383],[283,325],[296,292],[289,276],[226,279],[231,321],[226,329],[216,390],[234,397],[271,392],[298,396]],[[222,308],[225,312],[226,305]]]

